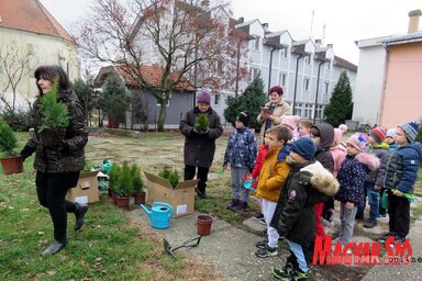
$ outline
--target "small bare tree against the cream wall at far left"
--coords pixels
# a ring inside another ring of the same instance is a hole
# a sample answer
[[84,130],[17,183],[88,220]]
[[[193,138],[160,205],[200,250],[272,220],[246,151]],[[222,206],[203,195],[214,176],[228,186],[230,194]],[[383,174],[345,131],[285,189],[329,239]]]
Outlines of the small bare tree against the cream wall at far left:
[[[26,48],[21,46],[16,42],[11,42],[3,45],[0,48],[0,75],[3,78],[0,81],[0,100],[4,103],[5,110],[14,112],[18,94],[18,86],[23,78],[25,78],[33,68],[31,67],[31,59],[34,58],[35,54],[32,47]],[[11,90],[12,102],[9,102],[7,92]]]

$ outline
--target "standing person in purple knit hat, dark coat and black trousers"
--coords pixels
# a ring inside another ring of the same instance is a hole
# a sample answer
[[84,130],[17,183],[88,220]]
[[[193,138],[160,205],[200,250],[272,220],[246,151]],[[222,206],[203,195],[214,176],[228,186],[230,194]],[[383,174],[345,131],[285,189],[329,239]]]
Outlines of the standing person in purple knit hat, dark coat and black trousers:
[[[215,139],[223,133],[219,114],[211,109],[211,94],[202,91],[197,98],[197,106],[185,113],[180,120],[179,130],[185,135],[185,180],[195,177],[198,167],[197,194],[200,199],[207,199],[208,172],[214,159]],[[199,114],[207,114],[209,127],[200,131],[195,126]]]

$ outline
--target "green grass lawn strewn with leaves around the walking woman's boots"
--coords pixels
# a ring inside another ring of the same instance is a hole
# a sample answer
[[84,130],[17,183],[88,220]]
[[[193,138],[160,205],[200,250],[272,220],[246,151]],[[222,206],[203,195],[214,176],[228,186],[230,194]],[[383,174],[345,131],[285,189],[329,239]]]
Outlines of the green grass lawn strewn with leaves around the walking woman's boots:
[[[19,136],[22,147],[26,134]],[[87,153],[96,154],[96,147]],[[168,257],[162,240],[131,222],[106,194],[90,204],[80,233],[74,232],[69,214],[69,244],[42,257],[53,241],[53,226],[36,198],[33,159],[26,159],[23,173],[4,176],[0,168],[0,280],[186,280],[198,272],[195,261]]]

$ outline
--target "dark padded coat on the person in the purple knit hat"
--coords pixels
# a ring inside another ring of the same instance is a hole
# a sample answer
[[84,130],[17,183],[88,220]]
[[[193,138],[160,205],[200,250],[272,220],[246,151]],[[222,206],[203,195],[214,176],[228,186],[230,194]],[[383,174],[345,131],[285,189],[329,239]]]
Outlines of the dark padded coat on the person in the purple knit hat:
[[215,153],[215,139],[223,133],[219,114],[211,108],[207,111],[210,126],[208,134],[193,132],[195,121],[200,114],[198,106],[185,113],[179,130],[185,135],[185,165],[210,168]]

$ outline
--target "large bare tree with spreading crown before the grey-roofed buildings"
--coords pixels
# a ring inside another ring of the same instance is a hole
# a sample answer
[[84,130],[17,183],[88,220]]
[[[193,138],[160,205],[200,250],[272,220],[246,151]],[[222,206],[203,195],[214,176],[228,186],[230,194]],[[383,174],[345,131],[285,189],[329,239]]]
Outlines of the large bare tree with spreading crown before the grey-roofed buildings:
[[[110,63],[160,104],[158,131],[174,89],[230,90],[241,71],[238,38],[230,27],[226,4],[203,0],[97,0],[75,36],[82,55]],[[158,81],[143,71],[160,69]]]

